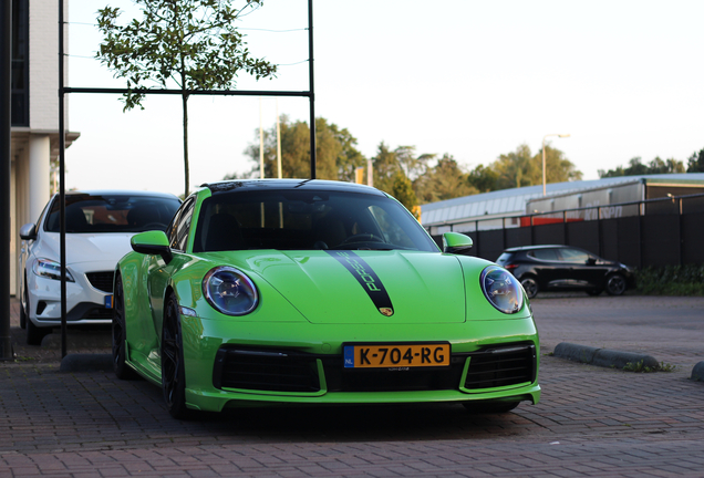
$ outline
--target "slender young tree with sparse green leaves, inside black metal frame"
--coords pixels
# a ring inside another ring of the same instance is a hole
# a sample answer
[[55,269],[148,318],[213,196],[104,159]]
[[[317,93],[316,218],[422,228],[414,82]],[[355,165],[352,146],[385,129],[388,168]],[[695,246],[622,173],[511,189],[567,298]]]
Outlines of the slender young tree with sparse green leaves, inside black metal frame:
[[232,0],[134,0],[142,20],[118,25],[118,8],[99,10],[103,42],[96,53],[101,63],[127,80],[124,110],[144,108],[138,89],[176,84],[182,90],[185,193],[188,195],[188,97],[189,91],[232,89],[240,71],[257,80],[271,77],[276,65],[250,55],[236,20],[247,8],[263,0],[245,0],[242,9]]

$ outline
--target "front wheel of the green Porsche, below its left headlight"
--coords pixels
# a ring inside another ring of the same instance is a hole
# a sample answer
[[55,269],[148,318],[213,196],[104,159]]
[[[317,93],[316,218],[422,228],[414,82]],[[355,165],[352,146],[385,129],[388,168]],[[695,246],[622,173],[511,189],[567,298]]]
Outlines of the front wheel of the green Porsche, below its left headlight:
[[162,389],[166,409],[174,418],[188,418],[186,407],[186,374],[180,333],[178,302],[173,293],[166,300],[162,326]]

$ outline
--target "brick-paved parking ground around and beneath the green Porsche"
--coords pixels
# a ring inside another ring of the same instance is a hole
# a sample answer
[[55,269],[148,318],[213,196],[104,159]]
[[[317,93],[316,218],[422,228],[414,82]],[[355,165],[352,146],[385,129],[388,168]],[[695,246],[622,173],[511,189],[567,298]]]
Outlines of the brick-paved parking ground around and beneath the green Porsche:
[[[18,343],[23,360],[0,365],[0,477],[704,476],[704,383],[689,378],[704,361],[704,298],[546,294],[532,306],[542,401],[494,416],[394,405],[179,422],[144,381],[61,373],[58,341]],[[106,353],[107,332],[92,334],[69,352]],[[674,371],[567,362],[550,356],[560,342],[645,352]]]

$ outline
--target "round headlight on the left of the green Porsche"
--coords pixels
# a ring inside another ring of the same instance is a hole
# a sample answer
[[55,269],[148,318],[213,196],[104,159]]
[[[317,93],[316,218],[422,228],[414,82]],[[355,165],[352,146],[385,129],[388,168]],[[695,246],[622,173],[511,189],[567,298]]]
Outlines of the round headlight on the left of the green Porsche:
[[203,293],[208,303],[227,315],[245,315],[259,302],[255,283],[231,267],[211,269],[203,280]]

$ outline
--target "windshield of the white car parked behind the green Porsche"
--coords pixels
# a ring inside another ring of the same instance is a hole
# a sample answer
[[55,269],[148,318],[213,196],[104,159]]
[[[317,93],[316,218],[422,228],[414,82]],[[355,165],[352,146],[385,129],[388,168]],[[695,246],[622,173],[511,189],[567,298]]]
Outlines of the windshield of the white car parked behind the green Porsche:
[[[66,232],[139,232],[166,230],[180,206],[174,197],[143,195],[66,195]],[[46,215],[44,230],[60,232],[59,197]]]

